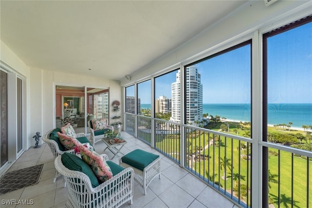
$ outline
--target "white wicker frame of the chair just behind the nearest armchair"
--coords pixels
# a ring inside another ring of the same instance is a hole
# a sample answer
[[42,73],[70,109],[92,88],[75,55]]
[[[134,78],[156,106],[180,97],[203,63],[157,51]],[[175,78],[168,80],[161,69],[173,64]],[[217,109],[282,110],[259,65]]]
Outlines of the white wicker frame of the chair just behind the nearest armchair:
[[[53,154],[54,159],[57,158],[57,156],[63,154],[64,152],[69,152],[72,154],[76,154],[76,152],[74,150],[67,150],[67,151],[61,151],[59,149],[59,145],[56,141],[50,139],[50,133],[53,131],[54,129],[46,132],[43,137],[42,137],[42,141],[44,141],[45,143],[47,143],[50,147],[50,150]],[[81,136],[86,136],[85,133],[77,133],[76,137],[81,137]],[[55,181],[57,180],[57,178],[60,176],[59,172],[57,170],[55,170],[55,174],[54,174],[54,178],[53,178],[53,183],[55,183]],[[66,183],[64,184],[64,187],[66,187]]]

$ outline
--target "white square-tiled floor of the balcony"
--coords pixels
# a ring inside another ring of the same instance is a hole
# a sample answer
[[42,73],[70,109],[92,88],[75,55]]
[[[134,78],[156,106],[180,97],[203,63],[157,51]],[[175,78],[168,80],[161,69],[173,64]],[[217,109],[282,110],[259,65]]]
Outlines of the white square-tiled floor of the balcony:
[[[236,206],[205,183],[198,180],[191,173],[180,168],[176,163],[166,158],[156,150],[126,132],[121,135],[127,144],[121,150],[128,153],[135,149],[150,151],[161,156],[161,178],[156,177],[144,195],[143,189],[135,182],[133,204],[128,203],[122,208],[235,208]],[[105,153],[112,158],[110,151],[105,151],[106,145],[98,142],[95,150]],[[120,155],[120,154],[118,154]],[[113,162],[119,163],[116,156]],[[62,177],[53,183],[54,159],[47,145],[41,148],[30,148],[25,151],[20,159],[9,171],[18,170],[44,163],[43,172],[38,184],[23,189],[18,189],[0,195],[0,207],[5,208],[63,208],[67,200],[67,189],[63,188]],[[33,205],[7,205],[4,200],[33,200]]]

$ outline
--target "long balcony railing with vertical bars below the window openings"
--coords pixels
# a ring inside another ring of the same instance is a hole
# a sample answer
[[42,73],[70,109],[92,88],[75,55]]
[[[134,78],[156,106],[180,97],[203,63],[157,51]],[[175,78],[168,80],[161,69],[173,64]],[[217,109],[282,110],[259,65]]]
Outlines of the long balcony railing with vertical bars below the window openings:
[[235,206],[312,206],[311,151],[141,115],[125,118],[126,132]]

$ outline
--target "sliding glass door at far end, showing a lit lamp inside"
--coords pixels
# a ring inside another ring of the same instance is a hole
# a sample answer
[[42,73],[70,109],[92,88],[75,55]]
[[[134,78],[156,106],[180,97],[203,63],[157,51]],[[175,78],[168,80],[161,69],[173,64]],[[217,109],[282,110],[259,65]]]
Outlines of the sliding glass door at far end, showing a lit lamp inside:
[[70,123],[76,133],[89,133],[89,120],[108,118],[108,89],[56,85],[55,92],[56,127]]

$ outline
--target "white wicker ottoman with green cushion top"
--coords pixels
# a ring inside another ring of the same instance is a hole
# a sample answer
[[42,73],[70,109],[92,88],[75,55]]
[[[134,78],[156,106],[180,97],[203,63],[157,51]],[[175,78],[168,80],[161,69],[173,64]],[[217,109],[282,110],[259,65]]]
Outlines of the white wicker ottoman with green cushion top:
[[129,152],[120,158],[120,166],[133,168],[134,180],[144,189],[144,195],[151,181],[157,175],[160,178],[160,157],[147,151],[137,149]]

